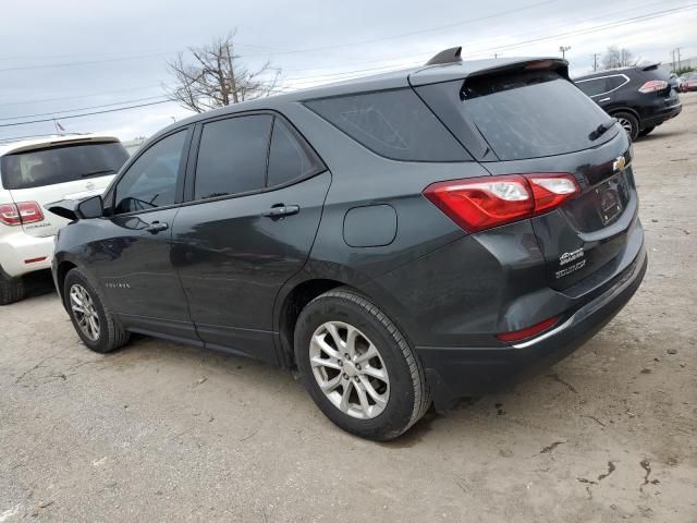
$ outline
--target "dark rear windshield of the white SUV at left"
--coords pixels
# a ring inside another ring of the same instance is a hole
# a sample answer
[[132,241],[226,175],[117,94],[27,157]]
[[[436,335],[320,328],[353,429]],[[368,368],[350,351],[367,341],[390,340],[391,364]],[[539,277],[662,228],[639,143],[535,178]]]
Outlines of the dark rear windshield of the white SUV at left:
[[115,173],[129,159],[119,142],[71,144],[0,158],[4,188],[32,188]]

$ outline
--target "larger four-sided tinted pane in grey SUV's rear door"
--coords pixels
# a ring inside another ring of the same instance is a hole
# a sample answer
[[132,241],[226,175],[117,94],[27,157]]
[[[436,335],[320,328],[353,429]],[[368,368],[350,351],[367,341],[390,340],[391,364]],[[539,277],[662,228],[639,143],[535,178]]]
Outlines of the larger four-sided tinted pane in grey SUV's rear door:
[[195,198],[264,188],[272,117],[236,117],[204,125]]

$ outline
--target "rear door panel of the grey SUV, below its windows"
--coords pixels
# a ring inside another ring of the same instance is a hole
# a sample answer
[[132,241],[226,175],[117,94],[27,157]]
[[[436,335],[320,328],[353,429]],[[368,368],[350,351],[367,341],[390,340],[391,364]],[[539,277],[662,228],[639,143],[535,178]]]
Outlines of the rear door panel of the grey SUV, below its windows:
[[[180,209],[172,259],[206,344],[276,362],[273,302],[307,259],[330,182],[326,171],[276,191]],[[273,211],[280,207],[286,212]]]

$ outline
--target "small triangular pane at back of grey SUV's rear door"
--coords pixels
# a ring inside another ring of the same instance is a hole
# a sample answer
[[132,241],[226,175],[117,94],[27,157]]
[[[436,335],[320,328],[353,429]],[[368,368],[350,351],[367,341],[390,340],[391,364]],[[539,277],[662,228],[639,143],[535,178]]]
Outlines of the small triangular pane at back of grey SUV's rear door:
[[305,141],[277,118],[269,149],[267,186],[272,187],[318,172],[320,166],[319,158]]

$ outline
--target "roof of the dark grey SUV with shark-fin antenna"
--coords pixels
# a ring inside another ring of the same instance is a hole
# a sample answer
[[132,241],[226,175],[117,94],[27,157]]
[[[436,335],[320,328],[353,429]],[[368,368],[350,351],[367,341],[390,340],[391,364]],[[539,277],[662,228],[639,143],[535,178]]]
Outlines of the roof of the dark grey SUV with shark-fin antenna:
[[[255,110],[279,110],[279,112],[282,112],[283,107],[290,104],[297,104],[318,98],[345,96],[354,93],[358,94],[369,93],[372,90],[389,90],[408,87],[409,85],[416,86],[454,80],[464,80],[469,76],[494,74],[503,70],[515,69],[518,66],[524,68],[534,63],[549,64],[549,69],[554,69],[559,71],[563,76],[568,78],[568,62],[558,57],[491,58],[485,60],[453,61],[448,63],[427,63],[426,65],[421,65],[418,68],[404,69],[370,76],[363,76],[354,80],[341,81],[213,109],[211,111],[206,111],[200,114],[195,114],[187,119],[180,120],[176,123],[172,123],[156,133],[147,142],[152,142],[154,139],[157,139],[163,134],[167,134],[175,129],[181,129],[192,123],[219,115],[234,114],[237,112]],[[145,145],[147,144],[144,144],[144,146]]]

